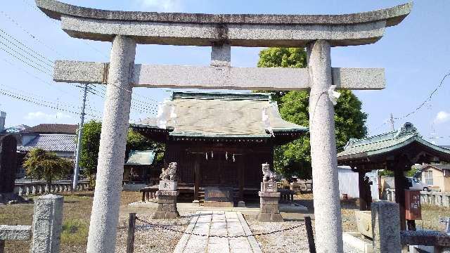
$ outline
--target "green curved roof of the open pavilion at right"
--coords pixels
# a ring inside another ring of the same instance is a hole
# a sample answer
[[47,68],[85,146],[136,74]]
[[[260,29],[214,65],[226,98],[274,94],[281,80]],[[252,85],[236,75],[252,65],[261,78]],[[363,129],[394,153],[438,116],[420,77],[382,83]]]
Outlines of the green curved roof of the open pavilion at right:
[[404,148],[413,142],[418,142],[428,148],[450,157],[450,150],[441,148],[425,141],[413,124],[406,122],[398,131],[390,131],[385,134],[370,136],[359,140],[350,139],[344,150],[338,153],[339,160],[353,160],[368,158],[375,155],[383,155],[394,150]]

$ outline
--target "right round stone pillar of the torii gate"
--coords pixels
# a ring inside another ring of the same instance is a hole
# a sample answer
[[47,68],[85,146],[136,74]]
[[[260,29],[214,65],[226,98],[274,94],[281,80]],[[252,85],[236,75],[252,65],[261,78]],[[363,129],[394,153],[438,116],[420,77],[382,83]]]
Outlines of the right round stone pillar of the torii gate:
[[322,249],[334,249],[333,252],[342,252],[335,110],[328,97],[328,89],[333,84],[328,41],[312,42],[307,48],[307,60],[311,82],[309,134],[314,182],[314,220],[316,235],[321,235],[316,236],[316,245],[321,245]]

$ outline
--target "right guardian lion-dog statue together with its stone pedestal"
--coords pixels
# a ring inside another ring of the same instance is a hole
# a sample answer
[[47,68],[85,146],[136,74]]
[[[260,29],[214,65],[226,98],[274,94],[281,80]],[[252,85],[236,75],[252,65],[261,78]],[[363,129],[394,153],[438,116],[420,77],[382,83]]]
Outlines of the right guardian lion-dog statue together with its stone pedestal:
[[[270,171],[269,164],[262,164],[263,179],[261,191],[259,191],[259,214],[258,221],[278,222],[283,221],[278,208],[281,193],[278,193],[276,185],[277,175]],[[268,179],[269,178],[269,179]]]

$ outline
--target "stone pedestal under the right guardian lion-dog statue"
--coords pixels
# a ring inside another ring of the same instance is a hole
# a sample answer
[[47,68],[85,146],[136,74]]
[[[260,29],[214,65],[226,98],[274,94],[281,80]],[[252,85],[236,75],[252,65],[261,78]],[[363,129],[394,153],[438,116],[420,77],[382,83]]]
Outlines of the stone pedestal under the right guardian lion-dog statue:
[[278,208],[278,201],[280,200],[281,193],[259,192],[258,195],[260,202],[257,220],[264,222],[283,221],[280,209]]

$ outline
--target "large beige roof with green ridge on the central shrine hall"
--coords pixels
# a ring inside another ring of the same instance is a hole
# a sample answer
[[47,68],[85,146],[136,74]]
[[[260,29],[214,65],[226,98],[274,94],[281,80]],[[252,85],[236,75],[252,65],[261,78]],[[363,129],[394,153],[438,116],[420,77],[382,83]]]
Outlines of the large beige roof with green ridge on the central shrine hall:
[[283,120],[269,93],[174,92],[157,118],[136,125],[173,129],[172,136],[269,137],[273,132],[308,130]]

